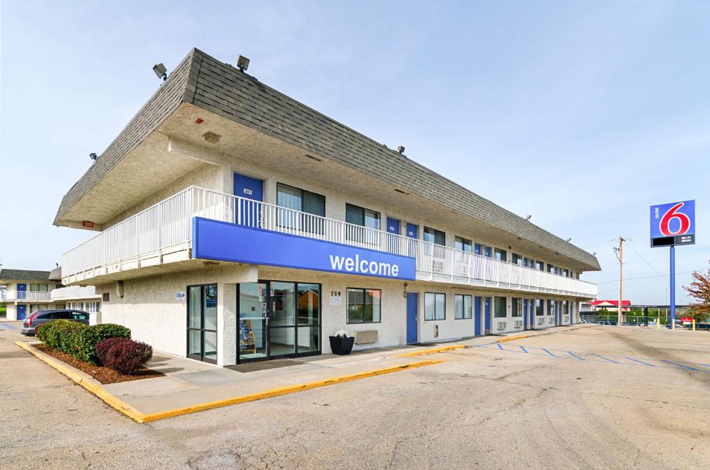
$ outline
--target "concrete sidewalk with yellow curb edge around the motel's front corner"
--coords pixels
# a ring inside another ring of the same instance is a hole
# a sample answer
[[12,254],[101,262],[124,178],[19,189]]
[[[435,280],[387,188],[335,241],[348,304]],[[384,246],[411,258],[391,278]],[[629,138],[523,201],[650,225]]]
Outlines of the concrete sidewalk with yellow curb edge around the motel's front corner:
[[373,350],[349,356],[312,356],[293,360],[293,364],[278,368],[263,363],[265,367],[261,370],[249,372],[158,353],[148,367],[165,376],[102,385],[86,373],[31,347],[35,342],[38,341],[17,341],[16,344],[138,422],[438,364],[442,362],[441,357],[422,355],[438,355],[463,347],[457,344],[431,344]]

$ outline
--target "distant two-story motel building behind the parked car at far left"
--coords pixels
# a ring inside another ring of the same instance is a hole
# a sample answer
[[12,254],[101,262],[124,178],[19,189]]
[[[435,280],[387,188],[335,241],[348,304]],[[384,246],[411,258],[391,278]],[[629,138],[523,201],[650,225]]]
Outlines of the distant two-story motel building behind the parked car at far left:
[[7,320],[23,320],[36,310],[81,310],[100,321],[101,295],[94,286],[62,285],[60,267],[51,271],[0,269],[0,302]]

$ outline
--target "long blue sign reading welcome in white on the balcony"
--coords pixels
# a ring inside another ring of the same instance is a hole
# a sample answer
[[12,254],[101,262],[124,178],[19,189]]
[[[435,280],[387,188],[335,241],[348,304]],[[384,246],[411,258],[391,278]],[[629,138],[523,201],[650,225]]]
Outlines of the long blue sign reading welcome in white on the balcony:
[[409,256],[195,217],[193,258],[414,280]]

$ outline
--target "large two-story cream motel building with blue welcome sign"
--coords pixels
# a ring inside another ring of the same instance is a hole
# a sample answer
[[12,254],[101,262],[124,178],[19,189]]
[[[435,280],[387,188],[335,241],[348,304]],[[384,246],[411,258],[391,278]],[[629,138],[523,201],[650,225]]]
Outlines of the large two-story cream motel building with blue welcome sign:
[[[90,149],[89,149],[90,150]],[[63,198],[102,322],[221,366],[579,322],[594,256],[192,50]]]

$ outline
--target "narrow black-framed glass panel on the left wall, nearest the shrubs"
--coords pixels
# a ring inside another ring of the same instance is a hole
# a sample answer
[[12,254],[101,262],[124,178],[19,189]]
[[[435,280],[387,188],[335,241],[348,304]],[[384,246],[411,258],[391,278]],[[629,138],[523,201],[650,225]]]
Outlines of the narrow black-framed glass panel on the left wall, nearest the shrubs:
[[217,364],[217,285],[187,288],[187,357]]

